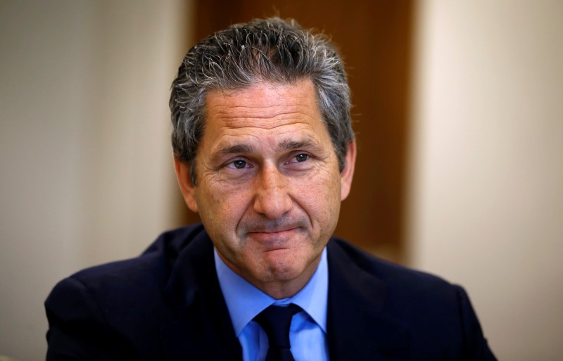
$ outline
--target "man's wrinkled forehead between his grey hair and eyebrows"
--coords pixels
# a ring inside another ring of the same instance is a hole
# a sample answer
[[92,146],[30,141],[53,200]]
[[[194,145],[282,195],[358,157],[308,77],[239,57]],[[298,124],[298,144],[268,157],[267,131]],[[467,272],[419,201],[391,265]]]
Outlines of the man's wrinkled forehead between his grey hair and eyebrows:
[[207,136],[202,143],[208,144],[213,158],[253,153],[264,146],[277,153],[297,148],[320,151],[328,137],[310,80],[260,83],[229,94],[213,91],[207,102]]

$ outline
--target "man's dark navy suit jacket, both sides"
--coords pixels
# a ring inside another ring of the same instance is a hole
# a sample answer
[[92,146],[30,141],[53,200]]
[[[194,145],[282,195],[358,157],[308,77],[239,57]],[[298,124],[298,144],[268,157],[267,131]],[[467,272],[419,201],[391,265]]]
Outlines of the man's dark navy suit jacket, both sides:
[[[328,243],[331,361],[495,360],[460,286]],[[241,361],[199,225],[64,279],[45,302],[47,361]]]

